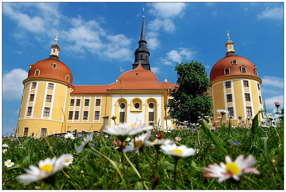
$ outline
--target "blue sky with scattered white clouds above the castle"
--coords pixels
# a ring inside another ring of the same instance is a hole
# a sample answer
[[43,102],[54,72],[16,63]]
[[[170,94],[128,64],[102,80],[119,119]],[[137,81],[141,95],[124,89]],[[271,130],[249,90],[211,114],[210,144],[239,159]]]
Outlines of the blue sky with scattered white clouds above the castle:
[[151,70],[176,83],[177,63],[199,61],[209,74],[233,40],[262,79],[262,99],[284,108],[284,3],[2,3],[2,134],[16,129],[23,80],[51,45],[74,85],[104,85],[132,70],[144,21]]

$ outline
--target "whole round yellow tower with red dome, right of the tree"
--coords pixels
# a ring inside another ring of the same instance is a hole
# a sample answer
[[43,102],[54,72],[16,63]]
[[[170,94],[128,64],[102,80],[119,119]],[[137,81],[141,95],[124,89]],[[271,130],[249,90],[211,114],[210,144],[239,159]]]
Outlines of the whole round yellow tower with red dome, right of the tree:
[[[229,33],[227,34],[229,36]],[[263,109],[260,85],[262,80],[257,76],[256,65],[244,57],[235,54],[234,42],[229,40],[225,44],[226,56],[219,60],[210,71],[212,84],[212,99],[214,104],[214,118],[212,123],[221,116],[218,109],[229,111],[223,120],[231,115],[232,124],[237,124],[238,116],[246,122],[248,117],[254,117],[258,110]],[[258,110],[257,110],[258,109]],[[259,120],[264,119],[261,113]]]

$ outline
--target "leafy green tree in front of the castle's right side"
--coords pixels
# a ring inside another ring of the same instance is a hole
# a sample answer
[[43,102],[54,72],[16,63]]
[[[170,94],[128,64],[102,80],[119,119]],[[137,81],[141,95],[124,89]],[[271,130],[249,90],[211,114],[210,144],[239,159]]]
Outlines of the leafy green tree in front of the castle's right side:
[[[196,123],[199,117],[212,116],[212,99],[208,94],[210,79],[205,67],[198,61],[177,63],[177,85],[171,92],[173,100],[168,103],[170,115],[176,123]],[[208,119],[206,119],[208,121]]]

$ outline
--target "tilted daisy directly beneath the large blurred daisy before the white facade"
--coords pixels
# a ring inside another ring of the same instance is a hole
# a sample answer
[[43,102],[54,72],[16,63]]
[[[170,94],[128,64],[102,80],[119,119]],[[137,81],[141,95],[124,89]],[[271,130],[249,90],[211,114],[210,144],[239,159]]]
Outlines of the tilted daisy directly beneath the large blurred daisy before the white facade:
[[[138,137],[134,137],[128,144],[129,146],[126,146],[125,149],[123,149],[123,152],[130,152],[135,151],[135,153],[138,153],[141,148],[144,146],[149,146],[148,139],[150,137],[150,133],[139,135]],[[135,144],[135,146],[134,146]]]

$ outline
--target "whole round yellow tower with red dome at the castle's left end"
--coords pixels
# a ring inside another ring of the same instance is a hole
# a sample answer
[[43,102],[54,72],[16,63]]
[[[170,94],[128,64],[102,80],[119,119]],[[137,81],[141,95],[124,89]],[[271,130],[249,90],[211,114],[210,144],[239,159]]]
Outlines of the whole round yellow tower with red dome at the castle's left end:
[[59,61],[57,41],[51,48],[50,57],[30,65],[28,78],[23,81],[16,134],[47,136],[65,132],[64,111],[69,104],[67,95],[73,88],[72,74]]

